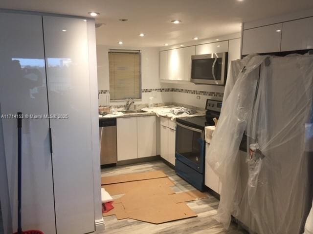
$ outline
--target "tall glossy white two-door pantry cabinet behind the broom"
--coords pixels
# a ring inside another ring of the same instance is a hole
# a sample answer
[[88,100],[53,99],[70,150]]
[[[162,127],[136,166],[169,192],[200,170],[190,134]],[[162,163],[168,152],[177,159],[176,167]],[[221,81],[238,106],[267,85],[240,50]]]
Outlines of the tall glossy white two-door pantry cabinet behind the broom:
[[[88,20],[0,12],[0,113],[57,115],[22,120],[23,230],[95,230],[92,136],[99,129],[92,124]],[[17,120],[2,118],[2,126],[15,231]]]

